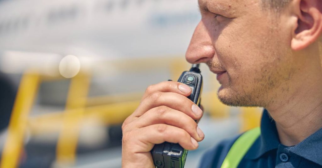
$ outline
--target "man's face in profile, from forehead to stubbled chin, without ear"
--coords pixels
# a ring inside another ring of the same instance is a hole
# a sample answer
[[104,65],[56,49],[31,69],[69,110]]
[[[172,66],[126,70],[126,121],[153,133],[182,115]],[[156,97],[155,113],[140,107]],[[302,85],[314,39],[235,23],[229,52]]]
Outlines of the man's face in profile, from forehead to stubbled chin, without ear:
[[266,107],[288,92],[293,74],[291,30],[283,13],[261,0],[199,0],[202,20],[186,53],[207,63],[222,84],[219,99],[233,106]]

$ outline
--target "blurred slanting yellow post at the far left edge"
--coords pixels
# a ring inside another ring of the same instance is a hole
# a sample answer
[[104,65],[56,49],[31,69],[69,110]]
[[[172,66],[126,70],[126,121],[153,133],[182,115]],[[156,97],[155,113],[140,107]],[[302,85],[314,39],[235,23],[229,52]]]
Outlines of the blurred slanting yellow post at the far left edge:
[[1,158],[1,168],[15,168],[24,143],[24,132],[38,90],[40,76],[26,72],[20,82]]

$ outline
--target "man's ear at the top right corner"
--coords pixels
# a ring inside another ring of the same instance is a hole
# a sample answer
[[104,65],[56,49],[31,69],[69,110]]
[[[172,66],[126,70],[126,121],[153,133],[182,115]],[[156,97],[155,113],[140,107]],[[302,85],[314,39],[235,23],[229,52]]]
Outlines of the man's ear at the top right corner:
[[322,32],[321,0],[294,0],[294,14],[298,18],[294,25],[291,48],[301,50],[320,39]]

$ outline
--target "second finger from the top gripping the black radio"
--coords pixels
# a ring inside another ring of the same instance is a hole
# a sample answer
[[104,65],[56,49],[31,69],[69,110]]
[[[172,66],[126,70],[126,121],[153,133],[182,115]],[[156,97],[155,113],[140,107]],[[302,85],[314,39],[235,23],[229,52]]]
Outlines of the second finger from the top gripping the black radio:
[[133,115],[140,117],[146,111],[158,106],[167,106],[172,109],[182,111],[194,120],[200,119],[203,115],[202,110],[184,95],[164,92],[152,93],[141,102]]

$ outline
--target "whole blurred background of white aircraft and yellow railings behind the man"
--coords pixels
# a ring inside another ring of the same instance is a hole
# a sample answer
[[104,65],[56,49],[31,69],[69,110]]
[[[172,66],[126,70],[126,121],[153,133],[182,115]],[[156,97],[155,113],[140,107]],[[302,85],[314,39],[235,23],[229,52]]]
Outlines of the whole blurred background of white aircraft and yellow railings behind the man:
[[[197,0],[0,0],[1,168],[119,168],[121,125],[147,86],[190,68]],[[217,99],[201,65],[205,150],[260,123]]]

